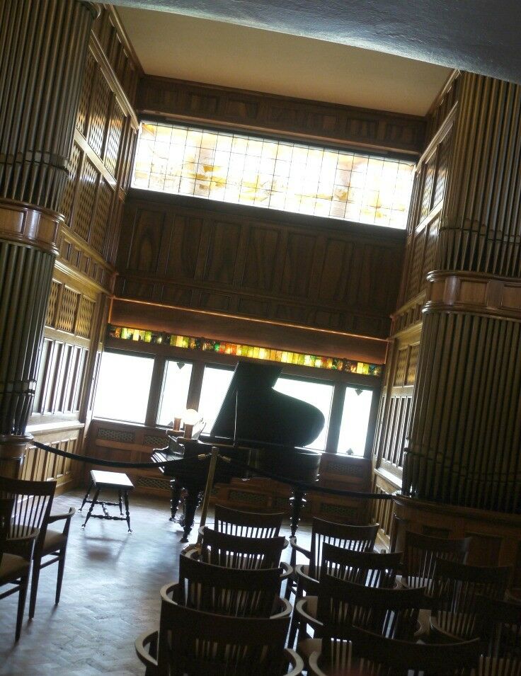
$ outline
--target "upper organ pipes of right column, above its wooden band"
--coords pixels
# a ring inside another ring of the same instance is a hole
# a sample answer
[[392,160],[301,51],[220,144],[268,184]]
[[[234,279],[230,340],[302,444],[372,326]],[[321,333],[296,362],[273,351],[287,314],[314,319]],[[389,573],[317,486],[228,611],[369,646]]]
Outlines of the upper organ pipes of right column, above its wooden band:
[[513,213],[521,172],[511,171],[521,164],[521,91],[508,82],[466,76],[462,96],[460,114],[472,123],[461,125],[454,141],[461,150],[452,159],[457,184],[440,232],[437,268],[521,277],[521,227]]

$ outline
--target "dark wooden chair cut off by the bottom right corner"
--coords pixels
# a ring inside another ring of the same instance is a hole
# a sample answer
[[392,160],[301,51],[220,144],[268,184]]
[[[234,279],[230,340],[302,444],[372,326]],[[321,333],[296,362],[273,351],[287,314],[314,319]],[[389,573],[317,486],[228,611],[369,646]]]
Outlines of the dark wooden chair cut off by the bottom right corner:
[[521,674],[521,604],[476,597],[479,636],[480,676]]

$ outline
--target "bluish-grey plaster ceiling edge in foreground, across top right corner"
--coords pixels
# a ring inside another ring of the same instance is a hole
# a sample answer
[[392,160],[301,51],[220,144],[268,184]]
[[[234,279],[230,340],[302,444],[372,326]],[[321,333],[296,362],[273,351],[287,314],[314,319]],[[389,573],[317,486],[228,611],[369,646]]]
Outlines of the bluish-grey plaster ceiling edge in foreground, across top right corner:
[[521,82],[519,0],[118,0]]

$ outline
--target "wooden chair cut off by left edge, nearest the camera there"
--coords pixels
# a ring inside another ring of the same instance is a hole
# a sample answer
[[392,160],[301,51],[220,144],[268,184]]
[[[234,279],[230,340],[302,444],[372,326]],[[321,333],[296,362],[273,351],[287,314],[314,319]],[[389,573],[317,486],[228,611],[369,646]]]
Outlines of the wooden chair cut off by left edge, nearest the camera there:
[[[16,612],[15,640],[20,638],[25,597],[29,586],[30,561],[33,556],[38,529],[23,537],[9,537],[11,534],[11,515],[14,498],[0,498],[0,588],[10,585],[8,590],[0,592],[0,599],[18,592],[18,610]],[[13,554],[6,553],[6,544]]]

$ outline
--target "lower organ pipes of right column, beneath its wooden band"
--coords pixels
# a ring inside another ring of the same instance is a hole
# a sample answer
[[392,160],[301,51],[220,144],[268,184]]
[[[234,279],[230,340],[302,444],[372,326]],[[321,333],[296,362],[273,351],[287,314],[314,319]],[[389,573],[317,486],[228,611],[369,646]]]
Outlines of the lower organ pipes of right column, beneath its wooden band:
[[[471,314],[427,314],[427,329],[440,347],[425,352],[420,362],[423,388],[414,403],[403,490],[418,498],[515,512],[521,500],[516,367],[521,324],[502,326],[497,319]],[[498,396],[501,392],[508,396]],[[434,418],[428,416],[432,410]]]

